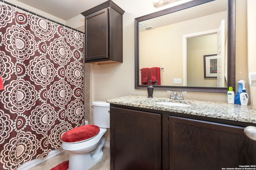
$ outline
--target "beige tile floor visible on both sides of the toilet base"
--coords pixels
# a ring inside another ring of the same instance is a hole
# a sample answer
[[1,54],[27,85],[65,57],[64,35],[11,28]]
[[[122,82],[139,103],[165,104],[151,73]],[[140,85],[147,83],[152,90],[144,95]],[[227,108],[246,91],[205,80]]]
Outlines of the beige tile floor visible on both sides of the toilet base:
[[[102,151],[104,153],[102,160],[89,170],[110,170],[110,148],[103,147]],[[50,170],[65,160],[68,160],[68,152],[66,151],[42,162],[41,164],[38,164],[37,166],[34,166],[33,168],[30,168],[29,170]]]

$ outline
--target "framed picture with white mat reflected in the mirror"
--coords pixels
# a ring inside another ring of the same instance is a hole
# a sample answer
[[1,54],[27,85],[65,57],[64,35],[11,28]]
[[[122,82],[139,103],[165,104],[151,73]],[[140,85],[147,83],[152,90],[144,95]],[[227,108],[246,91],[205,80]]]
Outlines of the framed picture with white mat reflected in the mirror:
[[217,55],[204,55],[204,78],[217,78]]

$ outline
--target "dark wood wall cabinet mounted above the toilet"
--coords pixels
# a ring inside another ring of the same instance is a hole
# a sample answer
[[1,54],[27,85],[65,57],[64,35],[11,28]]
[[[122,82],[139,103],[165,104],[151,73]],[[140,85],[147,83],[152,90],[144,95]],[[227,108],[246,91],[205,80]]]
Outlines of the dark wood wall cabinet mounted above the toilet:
[[85,63],[123,62],[123,14],[124,10],[111,0],[82,12],[85,16]]

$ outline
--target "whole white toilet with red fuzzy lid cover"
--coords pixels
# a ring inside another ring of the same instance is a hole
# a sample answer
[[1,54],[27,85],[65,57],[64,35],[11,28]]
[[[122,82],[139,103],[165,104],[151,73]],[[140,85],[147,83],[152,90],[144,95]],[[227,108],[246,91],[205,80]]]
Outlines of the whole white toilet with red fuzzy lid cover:
[[102,157],[104,134],[110,128],[110,104],[92,102],[92,125],[76,127],[61,137],[62,149],[69,152],[68,170],[88,170]]

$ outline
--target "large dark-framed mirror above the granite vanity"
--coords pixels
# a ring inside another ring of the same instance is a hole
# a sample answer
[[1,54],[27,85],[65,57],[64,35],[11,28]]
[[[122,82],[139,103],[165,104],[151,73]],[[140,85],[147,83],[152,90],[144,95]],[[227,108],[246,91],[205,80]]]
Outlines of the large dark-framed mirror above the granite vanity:
[[155,90],[235,89],[235,6],[192,0],[135,18],[135,88],[152,79]]

